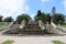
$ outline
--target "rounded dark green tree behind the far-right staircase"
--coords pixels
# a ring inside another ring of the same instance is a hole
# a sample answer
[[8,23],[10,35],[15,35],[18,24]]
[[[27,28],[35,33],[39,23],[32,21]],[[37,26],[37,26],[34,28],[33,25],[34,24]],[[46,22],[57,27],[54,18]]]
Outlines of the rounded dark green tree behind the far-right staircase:
[[64,19],[64,14],[62,13],[55,13],[54,18],[53,18],[53,22],[58,24],[58,23],[64,23],[65,19]]

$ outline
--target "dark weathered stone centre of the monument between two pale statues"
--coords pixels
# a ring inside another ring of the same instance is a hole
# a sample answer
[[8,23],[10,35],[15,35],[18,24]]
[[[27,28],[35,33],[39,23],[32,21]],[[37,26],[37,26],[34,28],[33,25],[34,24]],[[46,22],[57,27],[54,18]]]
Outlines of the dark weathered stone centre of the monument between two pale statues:
[[26,24],[23,31],[41,31],[38,24]]

